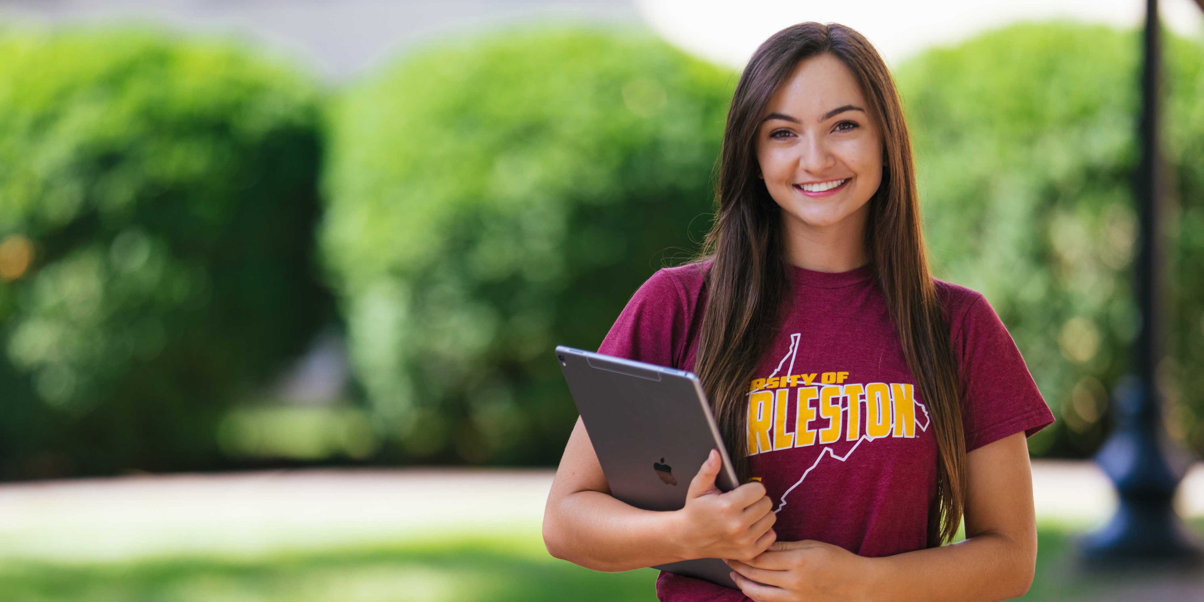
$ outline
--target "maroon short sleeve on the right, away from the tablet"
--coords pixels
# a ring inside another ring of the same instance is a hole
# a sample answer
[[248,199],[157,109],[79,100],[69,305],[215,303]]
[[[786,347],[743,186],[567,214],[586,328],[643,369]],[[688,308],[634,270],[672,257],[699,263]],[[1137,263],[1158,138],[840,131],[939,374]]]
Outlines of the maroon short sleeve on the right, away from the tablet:
[[1054,424],[1016,342],[981,294],[962,317],[956,349],[966,452],[1020,431],[1031,437]]

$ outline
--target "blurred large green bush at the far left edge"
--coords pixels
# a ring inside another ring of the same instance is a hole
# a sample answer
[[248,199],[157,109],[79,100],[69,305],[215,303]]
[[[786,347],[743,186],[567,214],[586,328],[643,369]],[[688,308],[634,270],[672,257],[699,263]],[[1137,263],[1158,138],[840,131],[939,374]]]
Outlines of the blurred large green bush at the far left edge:
[[0,477],[220,460],[332,312],[319,101],[229,42],[0,34]]

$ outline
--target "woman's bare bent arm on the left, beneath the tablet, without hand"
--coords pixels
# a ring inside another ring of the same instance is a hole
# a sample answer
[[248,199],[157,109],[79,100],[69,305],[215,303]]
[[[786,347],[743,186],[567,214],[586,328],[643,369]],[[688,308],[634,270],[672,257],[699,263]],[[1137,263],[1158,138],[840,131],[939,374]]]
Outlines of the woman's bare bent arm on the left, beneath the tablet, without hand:
[[553,556],[595,571],[631,571],[686,560],[675,512],[636,508],[610,495],[580,417],[568,436],[543,513]]

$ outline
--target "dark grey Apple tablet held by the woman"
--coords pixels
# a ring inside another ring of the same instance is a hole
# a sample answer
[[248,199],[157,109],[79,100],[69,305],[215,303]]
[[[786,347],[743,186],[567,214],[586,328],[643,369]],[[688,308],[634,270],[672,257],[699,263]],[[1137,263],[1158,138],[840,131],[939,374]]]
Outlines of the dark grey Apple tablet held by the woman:
[[[724,462],[715,486],[736,488],[736,471],[697,376],[565,346],[556,347],[556,359],[613,497],[648,510],[681,509],[712,448]],[[653,568],[739,589],[720,559]]]

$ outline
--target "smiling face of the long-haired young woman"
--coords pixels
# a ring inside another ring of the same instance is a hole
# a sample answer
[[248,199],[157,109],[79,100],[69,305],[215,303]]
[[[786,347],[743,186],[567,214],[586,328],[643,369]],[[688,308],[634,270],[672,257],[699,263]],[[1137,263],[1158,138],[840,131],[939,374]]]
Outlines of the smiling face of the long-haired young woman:
[[[852,72],[831,54],[799,61],[769,99],[756,155],[789,230],[842,223],[863,228],[885,160],[881,132],[868,111]],[[820,191],[802,189],[813,183]]]

